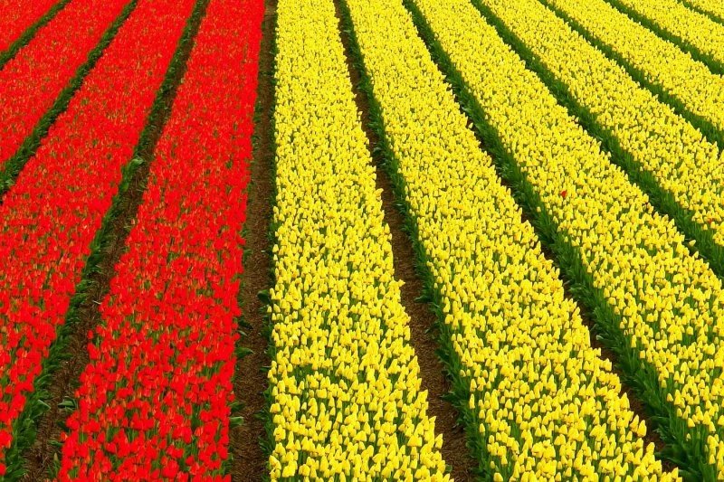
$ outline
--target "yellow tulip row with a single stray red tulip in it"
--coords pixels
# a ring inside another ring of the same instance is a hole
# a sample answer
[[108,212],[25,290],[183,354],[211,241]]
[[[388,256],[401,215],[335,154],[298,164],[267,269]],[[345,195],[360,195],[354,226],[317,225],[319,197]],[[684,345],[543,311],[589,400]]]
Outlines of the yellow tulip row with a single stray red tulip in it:
[[[724,477],[721,281],[468,0],[414,4],[471,91],[473,108],[484,112],[489,134],[552,217],[557,242],[575,250],[588,278],[576,281],[581,296],[597,303],[603,327],[626,337],[619,348],[641,359],[630,374],[642,386],[658,385],[649,402],[663,403],[672,439],[690,449],[692,468]],[[641,379],[649,369],[651,379]]]

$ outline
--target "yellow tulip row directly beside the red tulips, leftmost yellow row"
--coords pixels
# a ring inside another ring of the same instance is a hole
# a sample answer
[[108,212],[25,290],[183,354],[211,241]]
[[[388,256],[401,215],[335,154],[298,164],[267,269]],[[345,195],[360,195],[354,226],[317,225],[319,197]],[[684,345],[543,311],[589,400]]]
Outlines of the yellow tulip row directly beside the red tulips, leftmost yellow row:
[[447,479],[334,5],[277,14],[271,479]]

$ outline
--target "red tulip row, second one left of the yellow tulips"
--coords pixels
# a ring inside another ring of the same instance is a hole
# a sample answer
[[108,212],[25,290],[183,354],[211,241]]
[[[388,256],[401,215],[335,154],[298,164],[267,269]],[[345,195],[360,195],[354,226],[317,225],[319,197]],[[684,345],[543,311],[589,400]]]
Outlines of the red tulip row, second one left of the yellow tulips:
[[5,194],[0,206],[0,463],[194,5],[195,0],[139,0]]

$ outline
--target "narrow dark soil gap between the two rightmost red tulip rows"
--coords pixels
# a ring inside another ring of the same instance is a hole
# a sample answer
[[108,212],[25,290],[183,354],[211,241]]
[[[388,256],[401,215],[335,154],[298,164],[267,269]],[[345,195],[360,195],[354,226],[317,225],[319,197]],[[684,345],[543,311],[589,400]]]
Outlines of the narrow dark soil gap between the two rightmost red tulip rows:
[[132,172],[128,191],[117,200],[118,215],[113,218],[108,235],[102,240],[98,269],[86,279],[90,288],[78,309],[78,322],[72,327],[68,340],[68,358],[52,373],[48,388],[49,397],[43,400],[50,408],[38,421],[33,447],[24,454],[24,480],[37,481],[47,478],[54,461],[58,461],[61,457],[62,448],[56,442],[60,439],[62,427],[71,411],[62,409],[59,404],[66,399],[74,398],[74,392],[80,384],[81,373],[90,362],[87,350],[88,332],[100,323],[100,303],[109,292],[110,280],[116,275],[116,264],[125,252],[126,239],[146,190],[146,180],[154,150],[171,113],[178,85],[186,73],[186,61],[194,46],[194,39],[209,1],[199,0],[196,4],[189,19],[187,40],[183,45],[179,44],[179,50],[171,61],[167,77],[159,90],[160,95],[151,109],[147,127],[138,142],[136,155],[146,162]]

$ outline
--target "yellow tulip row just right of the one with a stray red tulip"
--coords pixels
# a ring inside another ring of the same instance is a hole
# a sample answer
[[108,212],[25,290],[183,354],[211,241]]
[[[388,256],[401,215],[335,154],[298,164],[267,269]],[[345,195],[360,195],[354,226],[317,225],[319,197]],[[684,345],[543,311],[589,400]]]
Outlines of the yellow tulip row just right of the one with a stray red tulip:
[[693,221],[724,245],[724,154],[537,0],[480,0]]

